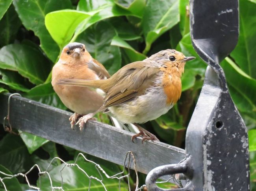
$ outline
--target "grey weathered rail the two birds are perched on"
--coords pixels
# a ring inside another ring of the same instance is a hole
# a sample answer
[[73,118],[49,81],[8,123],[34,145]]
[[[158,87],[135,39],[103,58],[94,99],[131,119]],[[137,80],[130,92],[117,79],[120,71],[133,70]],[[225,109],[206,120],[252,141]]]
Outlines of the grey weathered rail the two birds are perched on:
[[[0,123],[7,115],[9,94],[0,94]],[[147,174],[154,167],[176,164],[185,151],[162,142],[131,141],[133,133],[89,120],[82,132],[70,128],[70,112],[20,96],[12,96],[10,122],[20,129],[61,145],[69,146],[110,162],[122,165],[127,151],[133,151],[137,170]],[[133,166],[133,165],[131,165]],[[164,178],[165,179],[165,178]]]

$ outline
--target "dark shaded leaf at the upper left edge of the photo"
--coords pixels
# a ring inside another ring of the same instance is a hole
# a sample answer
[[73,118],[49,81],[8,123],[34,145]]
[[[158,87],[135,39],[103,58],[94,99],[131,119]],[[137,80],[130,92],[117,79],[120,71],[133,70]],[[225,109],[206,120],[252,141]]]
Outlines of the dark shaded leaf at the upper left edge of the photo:
[[14,42],[20,26],[20,19],[14,6],[11,5],[2,20],[0,20],[0,47]]

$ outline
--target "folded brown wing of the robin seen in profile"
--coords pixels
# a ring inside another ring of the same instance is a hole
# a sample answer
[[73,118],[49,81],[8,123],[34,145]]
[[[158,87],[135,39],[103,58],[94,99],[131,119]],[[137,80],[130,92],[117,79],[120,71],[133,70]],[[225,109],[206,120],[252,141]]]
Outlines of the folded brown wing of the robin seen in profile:
[[[104,104],[98,111],[111,106],[119,106],[135,96],[143,95],[145,89],[153,84],[157,77],[158,68],[153,67],[127,67],[122,71],[122,78],[109,89],[104,98]],[[120,75],[120,74],[119,74]]]

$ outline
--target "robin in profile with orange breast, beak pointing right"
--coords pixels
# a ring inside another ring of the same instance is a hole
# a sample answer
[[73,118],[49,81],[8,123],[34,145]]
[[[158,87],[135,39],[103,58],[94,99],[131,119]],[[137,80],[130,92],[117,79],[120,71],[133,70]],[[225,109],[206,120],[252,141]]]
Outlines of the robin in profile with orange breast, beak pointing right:
[[[167,113],[176,104],[181,95],[180,78],[184,73],[184,66],[194,58],[167,49],[143,61],[125,65],[108,79],[63,78],[57,84],[94,87],[106,93],[104,104],[97,111],[83,116],[83,122],[103,111],[111,112],[122,123],[145,123]],[[140,130],[132,139],[139,135],[144,136],[144,140],[155,139],[151,135],[147,137],[144,130]]]

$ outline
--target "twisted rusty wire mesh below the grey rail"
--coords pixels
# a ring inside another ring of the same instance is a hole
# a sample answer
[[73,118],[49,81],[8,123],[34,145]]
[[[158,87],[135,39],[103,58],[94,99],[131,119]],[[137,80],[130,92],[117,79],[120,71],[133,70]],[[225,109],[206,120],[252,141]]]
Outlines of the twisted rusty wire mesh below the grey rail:
[[[96,177],[96,175],[89,175],[85,168],[80,167],[79,164],[78,164],[79,158],[80,159],[82,158],[85,162],[89,162],[89,163],[93,164],[100,178]],[[54,183],[52,181],[52,177],[49,173],[50,167],[52,166],[52,164],[54,162],[56,162],[56,160],[59,160],[59,162],[61,162],[63,164],[62,168],[59,171],[59,176],[61,177],[61,186],[54,185]],[[135,188],[133,188],[133,189],[132,189],[132,187],[130,185],[130,181],[129,181],[131,166],[133,166],[133,169],[134,169],[135,175],[136,175],[136,177],[135,177]],[[50,161],[50,163],[48,164],[48,167],[46,167],[45,170],[42,170],[39,167],[38,164],[35,164],[26,173],[17,173],[15,175],[11,175],[11,174],[8,174],[8,173],[4,173],[3,171],[0,171],[0,182],[1,182],[2,187],[4,188],[4,190],[8,191],[9,189],[6,186],[5,181],[8,180],[8,179],[11,179],[11,178],[21,176],[21,177],[25,178],[26,184],[28,185],[30,190],[41,191],[42,190],[41,177],[43,175],[45,175],[48,178],[48,181],[50,182],[50,189],[52,191],[57,191],[57,190],[65,191],[65,188],[63,187],[63,184],[65,183],[63,181],[63,171],[64,171],[64,169],[70,168],[70,167],[77,167],[88,178],[88,180],[89,180],[89,185],[88,185],[88,189],[87,189],[88,191],[90,191],[90,189],[91,189],[92,180],[95,180],[95,181],[99,182],[101,184],[101,189],[107,191],[108,189],[104,184],[104,178],[117,179],[119,181],[119,184],[118,184],[118,190],[119,191],[121,191],[121,181],[124,180],[124,179],[127,180],[126,182],[128,183],[128,186],[127,186],[126,190],[128,190],[128,191],[143,191],[146,188],[145,184],[139,187],[139,179],[138,179],[138,171],[137,171],[137,166],[136,166],[136,160],[135,160],[135,156],[134,156],[132,151],[128,151],[126,153],[125,158],[124,158],[123,170],[121,172],[115,174],[115,175],[109,175],[108,173],[106,173],[106,171],[99,164],[97,164],[96,162],[94,162],[92,160],[87,159],[85,157],[85,155],[83,155],[83,153],[79,153],[76,156],[76,159],[75,159],[74,163],[67,163],[59,157],[54,157]],[[28,174],[30,172],[32,172],[34,169],[37,169],[39,171],[39,173],[38,173],[39,184],[37,186],[30,184],[30,180],[28,178]],[[178,188],[183,187],[182,184],[181,184],[181,181],[176,179],[176,176],[171,176],[171,178],[169,178],[168,180],[157,182],[157,183],[167,183],[170,180],[173,180],[173,182],[177,185]]]

